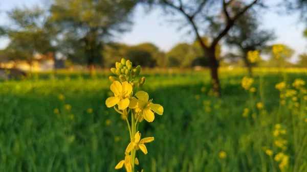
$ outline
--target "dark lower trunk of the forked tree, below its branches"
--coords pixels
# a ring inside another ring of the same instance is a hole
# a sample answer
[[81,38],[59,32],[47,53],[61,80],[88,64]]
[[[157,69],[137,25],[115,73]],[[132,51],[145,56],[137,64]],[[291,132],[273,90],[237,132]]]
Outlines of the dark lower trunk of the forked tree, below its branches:
[[215,57],[215,47],[209,48],[207,50],[207,55],[209,57],[212,88],[214,92],[217,93],[218,97],[221,97],[222,92],[221,92],[220,80],[218,79],[218,63]]

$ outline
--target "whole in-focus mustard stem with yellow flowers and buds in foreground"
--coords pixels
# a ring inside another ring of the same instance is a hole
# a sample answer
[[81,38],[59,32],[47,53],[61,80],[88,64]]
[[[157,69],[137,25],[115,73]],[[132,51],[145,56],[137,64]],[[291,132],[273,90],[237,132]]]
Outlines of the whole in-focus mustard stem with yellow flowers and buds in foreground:
[[[114,107],[121,114],[121,118],[126,120],[130,136],[125,157],[115,166],[115,169],[124,166],[127,172],[134,172],[135,165],[139,164],[136,151],[141,150],[147,154],[145,143],[155,139],[154,137],[141,139],[141,133],[138,131],[139,124],[144,119],[147,122],[152,122],[155,119],[155,113],[162,115],[164,110],[161,105],[152,103],[152,99],[149,100],[147,92],[138,91],[145,82],[145,77],[136,80],[140,74],[141,66],[133,69],[132,63],[125,59],[116,62],[115,66],[116,68],[111,68],[111,71],[116,77],[109,77],[112,83],[110,89],[114,96],[108,97],[105,104],[108,108]],[[128,119],[129,114],[130,120]]]

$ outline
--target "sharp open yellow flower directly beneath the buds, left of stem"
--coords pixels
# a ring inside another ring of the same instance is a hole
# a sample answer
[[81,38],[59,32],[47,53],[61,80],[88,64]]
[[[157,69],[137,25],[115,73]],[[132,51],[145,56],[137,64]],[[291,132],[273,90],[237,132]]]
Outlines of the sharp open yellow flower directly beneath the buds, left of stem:
[[114,96],[108,97],[105,101],[105,105],[108,108],[111,108],[118,105],[119,110],[126,109],[129,106],[130,94],[132,92],[132,86],[127,81],[121,84],[119,81],[114,81],[111,84],[111,91],[114,93]]

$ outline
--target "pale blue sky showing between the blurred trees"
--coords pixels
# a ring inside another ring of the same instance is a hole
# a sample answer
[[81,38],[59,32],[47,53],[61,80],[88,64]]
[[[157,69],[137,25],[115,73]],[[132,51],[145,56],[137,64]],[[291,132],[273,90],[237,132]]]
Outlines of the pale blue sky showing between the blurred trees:
[[[272,0],[272,3],[278,0]],[[41,4],[41,0],[0,0],[0,25],[8,23],[7,16],[4,11],[8,11],[16,6],[22,7]],[[290,46],[295,50],[295,54],[291,59],[295,62],[298,54],[307,53],[307,39],[302,36],[305,25],[298,22],[298,14],[279,15],[271,10],[266,12],[262,18],[262,27],[273,29],[277,39],[271,43],[282,43]],[[144,9],[138,7],[133,17],[134,25],[130,32],[127,32],[116,38],[117,41],[126,44],[139,44],[143,42],[151,42],[158,46],[162,51],[169,51],[174,45],[181,42],[191,42],[193,35],[187,35],[184,32],[178,32],[176,24],[165,22],[166,18],[159,10],[145,13]],[[8,44],[7,38],[0,38],[0,48],[4,48]],[[227,51],[224,48],[224,51]]]

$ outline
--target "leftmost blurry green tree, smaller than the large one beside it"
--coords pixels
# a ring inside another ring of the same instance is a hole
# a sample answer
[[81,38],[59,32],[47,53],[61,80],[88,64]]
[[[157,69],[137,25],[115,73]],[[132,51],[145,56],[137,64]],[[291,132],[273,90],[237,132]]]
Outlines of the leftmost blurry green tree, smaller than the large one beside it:
[[15,8],[8,12],[12,24],[6,33],[10,43],[6,48],[10,60],[27,60],[30,67],[35,53],[47,54],[54,51],[51,44],[52,29],[47,23],[46,11],[38,6]]

